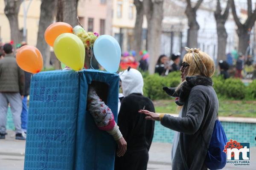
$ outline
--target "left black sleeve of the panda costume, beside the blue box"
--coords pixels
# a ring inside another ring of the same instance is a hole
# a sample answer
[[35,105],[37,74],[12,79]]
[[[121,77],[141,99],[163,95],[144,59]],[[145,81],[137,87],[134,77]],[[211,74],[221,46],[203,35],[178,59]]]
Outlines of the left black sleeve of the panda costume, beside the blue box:
[[129,102],[127,98],[123,98],[120,106],[120,111],[118,114],[117,125],[119,126],[119,130],[122,133],[124,139],[127,139],[129,133],[130,119],[129,119]]

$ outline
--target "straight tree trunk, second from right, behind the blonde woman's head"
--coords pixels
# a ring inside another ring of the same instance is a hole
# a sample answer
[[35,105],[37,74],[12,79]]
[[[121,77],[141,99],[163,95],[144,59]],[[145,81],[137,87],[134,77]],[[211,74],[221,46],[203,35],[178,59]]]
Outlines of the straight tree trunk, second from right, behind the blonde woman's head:
[[217,24],[218,52],[217,61],[226,60],[227,31],[224,24]]

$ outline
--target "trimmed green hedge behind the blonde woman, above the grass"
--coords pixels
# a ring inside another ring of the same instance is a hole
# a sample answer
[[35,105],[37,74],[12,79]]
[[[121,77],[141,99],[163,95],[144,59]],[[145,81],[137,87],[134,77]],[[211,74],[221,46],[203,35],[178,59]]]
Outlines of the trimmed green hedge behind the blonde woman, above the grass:
[[[144,95],[152,100],[170,99],[162,87],[177,87],[180,83],[180,72],[172,72],[166,77],[159,76],[158,74],[149,75],[143,73],[144,77]],[[213,88],[218,97],[224,99],[235,100],[254,100],[256,99],[256,80],[248,86],[244,85],[240,79],[224,79],[221,76],[212,77]]]

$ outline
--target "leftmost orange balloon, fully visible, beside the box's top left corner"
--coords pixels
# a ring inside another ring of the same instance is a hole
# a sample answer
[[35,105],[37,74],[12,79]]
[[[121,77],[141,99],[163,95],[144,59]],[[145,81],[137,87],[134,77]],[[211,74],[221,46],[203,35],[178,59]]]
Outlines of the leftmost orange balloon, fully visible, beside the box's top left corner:
[[43,68],[41,52],[31,45],[24,45],[18,49],[16,62],[22,70],[29,73],[38,73]]

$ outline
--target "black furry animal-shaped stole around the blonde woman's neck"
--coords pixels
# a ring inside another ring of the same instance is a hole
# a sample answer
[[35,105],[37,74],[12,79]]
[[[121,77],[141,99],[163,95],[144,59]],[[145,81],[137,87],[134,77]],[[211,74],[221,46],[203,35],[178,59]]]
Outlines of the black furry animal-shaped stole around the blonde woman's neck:
[[163,90],[170,96],[177,97],[176,104],[182,106],[189,97],[191,89],[196,85],[208,86],[213,85],[213,83],[210,77],[187,76],[186,81],[180,85],[179,89],[176,90],[176,88],[163,87]]

